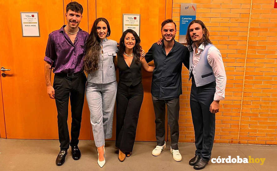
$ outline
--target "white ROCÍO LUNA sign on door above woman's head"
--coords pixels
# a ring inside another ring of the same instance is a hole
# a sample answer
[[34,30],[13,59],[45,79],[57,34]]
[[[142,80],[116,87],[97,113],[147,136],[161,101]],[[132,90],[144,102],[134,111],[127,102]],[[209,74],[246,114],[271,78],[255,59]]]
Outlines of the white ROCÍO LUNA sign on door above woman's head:
[[140,14],[123,14],[122,32],[127,29],[134,30],[138,36],[140,35]]

